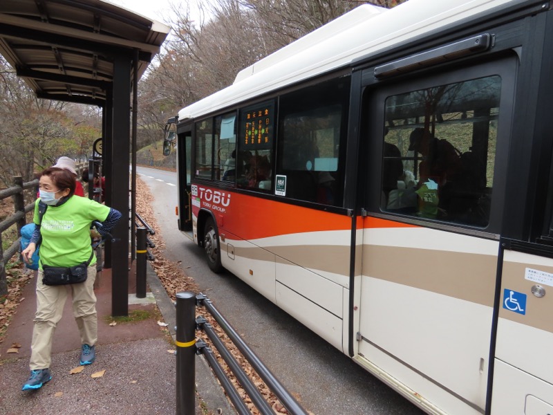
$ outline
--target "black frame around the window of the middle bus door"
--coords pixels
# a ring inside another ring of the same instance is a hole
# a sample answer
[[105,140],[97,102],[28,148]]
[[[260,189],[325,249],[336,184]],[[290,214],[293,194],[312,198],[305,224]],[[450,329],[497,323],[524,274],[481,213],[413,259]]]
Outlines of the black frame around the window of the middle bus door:
[[[513,53],[507,56],[503,55],[496,59],[487,59],[485,62],[475,62],[471,60],[460,67],[448,66],[440,68],[439,71],[432,70],[418,74],[416,77],[400,77],[394,80],[386,80],[367,86],[362,93],[362,111],[361,119],[364,120],[366,109],[375,109],[371,115],[368,111],[366,122],[362,122],[361,136],[375,137],[374,140],[366,140],[368,145],[362,149],[361,154],[367,154],[369,158],[366,163],[366,169],[361,169],[363,178],[372,177],[373,180],[367,180],[364,189],[364,201],[368,206],[368,212],[376,216],[382,216],[394,221],[413,223],[417,225],[428,226],[429,228],[442,228],[466,232],[469,234],[480,234],[495,239],[500,234],[503,223],[503,203],[506,201],[506,174],[507,156],[509,154],[509,143],[511,137],[511,125],[514,116],[514,94],[516,92],[516,66],[518,66],[518,57]],[[368,69],[368,71],[372,71]],[[386,99],[392,95],[400,95],[409,91],[418,91],[429,89],[444,84],[455,84],[457,82],[466,82],[482,77],[499,75],[501,78],[500,86],[500,104],[498,117],[498,133],[496,143],[496,156],[494,160],[494,184],[491,192],[491,207],[489,212],[489,223],[485,228],[479,228],[474,225],[463,223],[443,221],[440,219],[429,219],[418,216],[409,216],[396,212],[382,210],[381,208],[381,186],[382,186],[382,147],[384,146],[384,126],[385,126],[385,103]],[[364,131],[364,132],[363,132]],[[363,142],[363,140],[361,140]]]

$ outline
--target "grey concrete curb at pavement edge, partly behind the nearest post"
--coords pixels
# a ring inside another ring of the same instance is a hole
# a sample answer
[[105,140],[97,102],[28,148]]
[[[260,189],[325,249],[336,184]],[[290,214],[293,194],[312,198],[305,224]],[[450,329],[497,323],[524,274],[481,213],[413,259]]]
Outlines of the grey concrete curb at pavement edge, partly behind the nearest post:
[[[156,304],[160,309],[163,320],[169,324],[167,329],[169,329],[171,337],[175,340],[175,305],[149,263],[146,265],[146,281],[153,296],[156,298]],[[196,359],[196,362],[196,388],[203,402],[207,405],[207,411],[214,414],[236,414],[236,410],[225,397],[223,387],[218,384],[217,378],[205,358],[200,355]]]

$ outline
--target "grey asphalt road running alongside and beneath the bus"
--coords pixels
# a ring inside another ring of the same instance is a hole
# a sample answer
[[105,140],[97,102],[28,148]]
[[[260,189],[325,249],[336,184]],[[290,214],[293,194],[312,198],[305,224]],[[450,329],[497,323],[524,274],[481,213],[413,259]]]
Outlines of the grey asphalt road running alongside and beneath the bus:
[[176,173],[138,167],[153,194],[166,256],[182,261],[234,329],[265,365],[315,415],[419,415],[408,400],[356,365],[231,273],[209,270],[203,250],[177,229]]

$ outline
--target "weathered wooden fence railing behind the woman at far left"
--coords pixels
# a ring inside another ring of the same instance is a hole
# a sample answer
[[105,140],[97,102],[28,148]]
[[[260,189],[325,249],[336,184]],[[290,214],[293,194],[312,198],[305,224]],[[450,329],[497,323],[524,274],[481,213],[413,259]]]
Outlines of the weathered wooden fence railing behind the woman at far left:
[[[79,163],[75,166],[77,169],[77,179],[80,178],[81,170],[86,167],[86,163]],[[23,183],[21,176],[15,176],[13,186],[8,189],[0,190],[0,200],[12,196],[14,213],[0,222],[0,296],[8,293],[6,264],[12,257],[19,252],[19,244],[21,242],[21,228],[26,222],[26,214],[35,209],[35,201],[37,199],[37,188],[39,185],[38,179]],[[32,189],[32,202],[25,205],[24,191]],[[17,239],[10,245],[6,251],[3,250],[2,233],[17,223]]]

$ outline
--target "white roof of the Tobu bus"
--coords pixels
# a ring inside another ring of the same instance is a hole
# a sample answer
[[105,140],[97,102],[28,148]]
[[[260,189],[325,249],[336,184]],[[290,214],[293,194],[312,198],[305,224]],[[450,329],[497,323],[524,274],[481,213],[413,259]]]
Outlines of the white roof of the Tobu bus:
[[332,71],[462,19],[521,0],[409,0],[392,9],[359,6],[238,73],[234,83],[181,109],[179,120],[229,107]]

